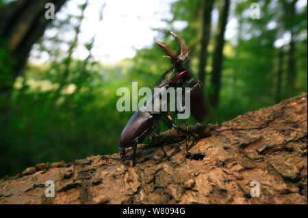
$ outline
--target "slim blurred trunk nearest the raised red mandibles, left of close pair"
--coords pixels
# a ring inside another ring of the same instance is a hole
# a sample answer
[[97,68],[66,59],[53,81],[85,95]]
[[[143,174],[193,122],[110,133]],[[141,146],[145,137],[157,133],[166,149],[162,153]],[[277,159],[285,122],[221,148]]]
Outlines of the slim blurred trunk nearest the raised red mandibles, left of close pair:
[[203,26],[201,38],[201,50],[199,58],[198,77],[201,83],[205,85],[205,67],[207,66],[207,45],[211,35],[211,11],[213,10],[214,1],[203,1]]

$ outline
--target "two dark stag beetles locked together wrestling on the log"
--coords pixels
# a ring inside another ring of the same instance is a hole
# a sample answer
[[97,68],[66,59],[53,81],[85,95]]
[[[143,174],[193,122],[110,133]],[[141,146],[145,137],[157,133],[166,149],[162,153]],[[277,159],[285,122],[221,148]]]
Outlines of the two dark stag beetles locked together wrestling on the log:
[[[155,43],[166,52],[168,55],[167,57],[169,57],[172,62],[172,67],[166,70],[156,87],[190,87],[190,112],[198,122],[202,122],[208,115],[208,107],[203,98],[201,83],[199,81],[196,82],[190,74],[188,66],[190,51],[187,51],[183,40],[177,36],[177,34],[171,31],[167,31],[167,33],[174,36],[179,41],[181,44],[181,51],[179,55],[175,55],[170,51],[166,44],[162,44],[155,40]],[[155,98],[157,98],[156,100],[159,100],[158,105],[153,104]],[[118,149],[121,150],[121,159],[125,158],[125,148],[133,147],[133,166],[135,166],[137,144],[142,143],[144,139],[151,135],[155,130],[155,135],[158,137],[158,121],[162,118],[164,118],[164,122],[166,122],[170,128],[174,127],[177,131],[186,133],[186,150],[188,150],[189,131],[187,121],[186,130],[177,126],[172,118],[170,118],[170,115],[168,115],[168,111],[162,111],[162,107],[166,104],[168,104],[168,102],[162,100],[161,94],[154,94],[146,106],[133,113],[120,135]],[[153,109],[153,107],[157,108]],[[160,148],[162,148],[164,156],[167,156],[161,144]]]

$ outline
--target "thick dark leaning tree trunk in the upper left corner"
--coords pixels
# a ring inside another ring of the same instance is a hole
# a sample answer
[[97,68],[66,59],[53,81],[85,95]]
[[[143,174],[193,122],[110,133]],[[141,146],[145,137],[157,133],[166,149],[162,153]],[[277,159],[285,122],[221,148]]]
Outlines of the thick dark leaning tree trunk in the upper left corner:
[[0,75],[5,76],[0,94],[10,96],[14,80],[25,66],[32,45],[43,35],[47,24],[52,21],[44,16],[47,11],[44,8],[46,3],[53,3],[56,13],[65,2],[66,0],[18,0],[12,1],[1,10],[0,39],[7,42],[8,53],[12,55],[15,63],[7,63],[13,65],[10,74],[0,69]]

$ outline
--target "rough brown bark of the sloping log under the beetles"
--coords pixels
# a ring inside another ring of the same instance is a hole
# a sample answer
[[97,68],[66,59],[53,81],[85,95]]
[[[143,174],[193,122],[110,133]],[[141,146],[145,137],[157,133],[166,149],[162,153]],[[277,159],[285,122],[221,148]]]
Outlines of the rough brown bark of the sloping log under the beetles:
[[[136,167],[112,156],[44,163],[0,180],[1,204],[307,204],[307,93],[239,115],[220,126],[191,126],[190,155],[176,151],[185,136],[161,134],[170,160],[138,146]],[[113,157],[115,159],[110,159]],[[45,182],[55,197],[45,197]],[[260,197],[251,197],[251,181]]]

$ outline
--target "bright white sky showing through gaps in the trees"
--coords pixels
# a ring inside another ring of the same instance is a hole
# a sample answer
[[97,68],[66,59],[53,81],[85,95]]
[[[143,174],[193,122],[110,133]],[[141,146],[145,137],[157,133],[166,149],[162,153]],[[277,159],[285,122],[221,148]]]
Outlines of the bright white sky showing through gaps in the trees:
[[[73,53],[73,57],[85,59],[88,56],[88,51],[82,44],[90,42],[96,31],[97,35],[92,49],[92,55],[95,59],[107,64],[118,62],[126,57],[133,57],[136,54],[136,49],[142,49],[144,46],[153,44],[153,38],[158,35],[158,32],[153,28],[166,28],[166,23],[162,20],[172,17],[169,11],[170,3],[173,1],[175,0],[89,0],[85,18],[81,24],[79,46]],[[84,2],[85,0],[68,1],[68,7],[62,8],[57,13],[56,18],[65,18],[67,14],[80,14],[77,5]],[[231,8],[235,6],[234,1],[232,2]],[[300,0],[299,2],[306,2],[307,4],[307,0]],[[99,22],[99,12],[103,3],[105,3],[103,20]],[[218,19],[217,10],[214,10],[212,18],[213,23],[216,23]],[[173,25],[180,31],[187,23],[176,22]],[[235,36],[237,26],[238,23],[235,18],[229,20],[225,33],[226,40]],[[73,32],[68,33],[67,37],[72,38]],[[32,51],[32,54],[35,53],[37,52]],[[30,61],[43,63],[48,58],[47,53],[42,53],[40,59],[32,56]]]

